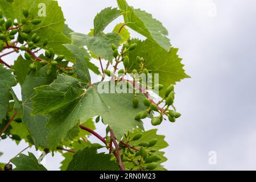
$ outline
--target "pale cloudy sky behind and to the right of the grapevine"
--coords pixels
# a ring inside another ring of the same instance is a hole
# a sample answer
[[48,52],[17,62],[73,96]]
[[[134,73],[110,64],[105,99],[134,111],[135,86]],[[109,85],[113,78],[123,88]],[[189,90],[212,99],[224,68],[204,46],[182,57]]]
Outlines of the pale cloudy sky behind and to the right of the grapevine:
[[[172,46],[179,48],[184,68],[192,77],[176,86],[175,105],[182,117],[176,123],[163,122],[158,127],[158,134],[166,135],[170,144],[164,150],[168,158],[164,166],[169,170],[255,170],[256,1],[127,2],[146,10],[164,24],[170,32]],[[114,0],[61,0],[59,5],[69,27],[88,33],[93,28],[94,16],[117,3]],[[119,18],[115,23],[121,21]],[[115,23],[106,31],[112,30]],[[138,36],[134,32],[133,35]],[[146,129],[152,128],[150,121],[145,123]],[[101,125],[97,127],[103,134],[105,129]],[[91,139],[98,142],[94,137]],[[16,146],[10,140],[1,141],[0,151],[4,155],[0,162],[7,162],[25,147],[24,142]],[[209,151],[217,152],[216,165],[209,165]],[[45,166],[58,169],[61,160],[60,155],[55,158],[48,155]]]

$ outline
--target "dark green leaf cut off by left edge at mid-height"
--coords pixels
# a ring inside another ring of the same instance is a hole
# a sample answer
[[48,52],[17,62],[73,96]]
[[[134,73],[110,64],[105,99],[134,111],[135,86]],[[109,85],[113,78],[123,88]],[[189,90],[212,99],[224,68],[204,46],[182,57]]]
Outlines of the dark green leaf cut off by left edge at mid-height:
[[14,75],[11,74],[11,69],[6,69],[0,64],[0,121],[6,118],[6,113],[9,110],[9,101],[11,100],[10,89],[16,84]]

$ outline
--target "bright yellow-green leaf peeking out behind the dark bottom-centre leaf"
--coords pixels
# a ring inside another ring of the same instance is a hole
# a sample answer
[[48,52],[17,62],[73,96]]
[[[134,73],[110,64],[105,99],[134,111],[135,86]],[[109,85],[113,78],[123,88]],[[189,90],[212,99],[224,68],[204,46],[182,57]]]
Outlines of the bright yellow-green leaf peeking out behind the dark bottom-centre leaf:
[[[79,140],[79,142],[74,142],[72,143],[72,146],[71,146],[71,149],[72,150],[75,150],[75,151],[79,151],[79,150],[82,150],[84,149],[85,147],[90,147],[91,146],[91,143],[90,142],[84,142],[84,141],[81,141]],[[67,170],[68,168],[68,164],[72,161],[73,159],[73,155],[74,153],[72,152],[65,152],[63,154],[63,157],[65,158],[62,162],[61,162],[61,167],[60,167],[60,170],[61,171],[65,171]]]

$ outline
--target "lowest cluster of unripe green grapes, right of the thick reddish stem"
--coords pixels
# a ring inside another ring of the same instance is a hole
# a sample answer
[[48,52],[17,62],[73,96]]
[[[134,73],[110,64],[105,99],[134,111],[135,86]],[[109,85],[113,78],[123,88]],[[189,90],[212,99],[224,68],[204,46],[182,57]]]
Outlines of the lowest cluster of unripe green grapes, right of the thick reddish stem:
[[[141,139],[142,133],[134,135],[131,140],[127,141],[127,144],[132,141]],[[158,142],[158,139],[154,138],[148,142],[141,142],[136,144],[133,147],[124,146],[122,143],[119,146],[122,149],[122,161],[129,162],[133,164],[133,168],[138,168],[141,170],[154,170],[158,167],[158,161],[161,160],[160,156],[155,154],[156,150],[154,149],[155,144]]]

